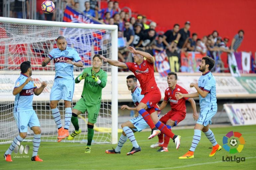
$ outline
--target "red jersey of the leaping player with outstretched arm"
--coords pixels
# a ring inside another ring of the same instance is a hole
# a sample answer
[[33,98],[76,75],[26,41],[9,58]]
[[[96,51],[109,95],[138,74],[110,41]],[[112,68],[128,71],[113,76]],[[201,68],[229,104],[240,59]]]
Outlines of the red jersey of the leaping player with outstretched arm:
[[140,65],[135,62],[127,62],[125,64],[139,80],[142,89],[141,94],[144,95],[150,91],[159,90],[154,75],[154,63],[144,60]]

